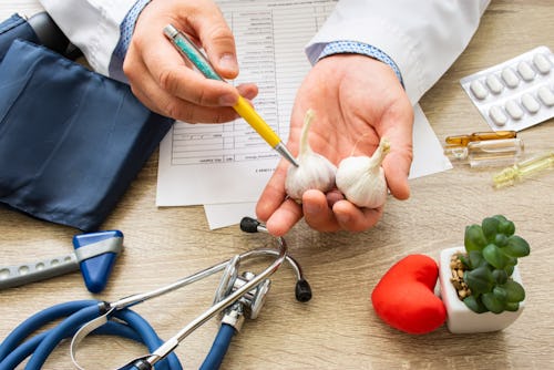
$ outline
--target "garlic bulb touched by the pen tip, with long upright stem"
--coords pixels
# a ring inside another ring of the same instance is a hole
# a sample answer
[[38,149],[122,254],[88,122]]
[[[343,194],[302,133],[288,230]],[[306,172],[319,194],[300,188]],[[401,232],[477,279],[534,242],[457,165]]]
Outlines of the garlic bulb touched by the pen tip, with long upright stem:
[[304,192],[308,189],[325,193],[335,186],[337,167],[325,156],[315,153],[308,143],[308,132],[314,116],[312,110],[306,112],[300,136],[300,153],[297,157],[298,167],[289,167],[285,181],[285,191],[297,202],[302,199]]

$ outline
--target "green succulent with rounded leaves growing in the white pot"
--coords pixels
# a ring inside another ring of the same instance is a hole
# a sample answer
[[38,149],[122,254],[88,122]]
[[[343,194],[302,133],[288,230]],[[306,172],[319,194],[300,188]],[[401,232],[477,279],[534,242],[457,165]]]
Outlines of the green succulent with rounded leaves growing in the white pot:
[[464,265],[463,280],[471,291],[463,302],[471,310],[516,311],[525,299],[525,290],[512,274],[517,258],[529,256],[530,246],[514,233],[514,223],[502,215],[465,228],[466,254],[459,258]]

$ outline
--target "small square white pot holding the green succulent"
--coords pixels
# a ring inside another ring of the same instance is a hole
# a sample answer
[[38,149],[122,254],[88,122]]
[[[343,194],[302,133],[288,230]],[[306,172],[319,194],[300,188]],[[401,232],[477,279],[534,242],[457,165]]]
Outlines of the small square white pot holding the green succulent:
[[[464,251],[463,247],[449,248],[441,251],[439,260],[439,282],[441,299],[447,307],[447,326],[450,332],[469,333],[497,331],[509,327],[523,311],[525,300],[520,302],[517,311],[504,311],[501,314],[483,312],[476,314],[469,309],[463,301],[458,298],[458,292],[450,281],[452,271],[450,268],[450,257],[456,251]],[[520,271],[515,266],[512,278],[522,284]]]

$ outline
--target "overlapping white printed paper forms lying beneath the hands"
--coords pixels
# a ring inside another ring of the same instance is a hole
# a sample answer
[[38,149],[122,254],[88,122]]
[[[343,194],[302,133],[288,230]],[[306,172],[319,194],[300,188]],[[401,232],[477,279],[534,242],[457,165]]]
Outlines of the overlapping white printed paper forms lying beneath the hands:
[[[257,112],[286,142],[296,91],[310,64],[305,45],[335,7],[329,1],[217,1],[235,34],[240,74],[255,82]],[[451,168],[423,112],[416,107],[410,177]],[[156,204],[204,205],[211,228],[255,216],[279,155],[244,121],[177,122],[160,146]]]

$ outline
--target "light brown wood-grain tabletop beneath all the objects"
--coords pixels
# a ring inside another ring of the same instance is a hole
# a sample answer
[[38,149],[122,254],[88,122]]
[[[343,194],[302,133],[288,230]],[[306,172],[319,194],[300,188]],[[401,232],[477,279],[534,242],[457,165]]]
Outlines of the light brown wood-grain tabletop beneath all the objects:
[[[0,19],[13,12],[31,16],[35,0],[0,2]],[[486,131],[459,81],[538,45],[554,49],[551,0],[493,1],[464,53],[421,101],[439,140]],[[519,133],[526,152],[554,148],[554,121]],[[107,288],[91,295],[79,273],[0,292],[0,338],[30,315],[74,299],[116,300],[157,288],[234,254],[269,243],[237,226],[209,230],[202,207],[155,206],[157,153],[147,162],[103,229],[120,229],[125,249]],[[225,369],[553,369],[552,305],[554,251],[554,171],[502,191],[491,186],[491,171],[455,165],[453,169],[411,181],[409,201],[390,199],[382,220],[361,234],[320,234],[304,223],[287,236],[314,290],[308,304],[294,298],[288,268],[273,278],[257,320],[246,321],[225,359]],[[523,315],[507,329],[452,335],[445,326],[410,336],[384,325],[370,294],[382,275],[410,254],[437,258],[443,248],[463,243],[463,230],[483,217],[503,214],[532,247],[521,266],[527,299]],[[73,228],[37,220],[0,208],[1,265],[72,251]],[[253,265],[260,270],[265,265]],[[211,305],[218,276],[136,306],[164,339]],[[177,348],[186,369],[198,368],[218,328],[208,321]],[[72,369],[69,345],[47,362],[48,369]],[[114,368],[145,350],[116,338],[90,339],[80,361],[88,369]]]

